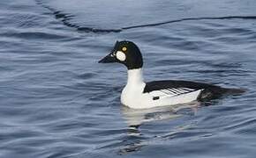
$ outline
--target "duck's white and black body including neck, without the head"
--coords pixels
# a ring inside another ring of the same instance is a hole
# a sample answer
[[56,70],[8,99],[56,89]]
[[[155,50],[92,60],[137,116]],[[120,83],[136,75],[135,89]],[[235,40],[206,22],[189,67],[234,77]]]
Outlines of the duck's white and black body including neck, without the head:
[[155,81],[145,83],[142,69],[128,70],[128,80],[122,90],[121,103],[134,109],[185,104],[219,97],[227,91],[219,86],[187,81]]

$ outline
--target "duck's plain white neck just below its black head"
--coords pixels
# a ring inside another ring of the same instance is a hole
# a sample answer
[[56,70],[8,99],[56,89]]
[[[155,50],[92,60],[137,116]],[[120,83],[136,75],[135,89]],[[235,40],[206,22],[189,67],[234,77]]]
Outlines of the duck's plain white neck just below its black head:
[[141,85],[144,84],[142,68],[128,69],[127,85]]

